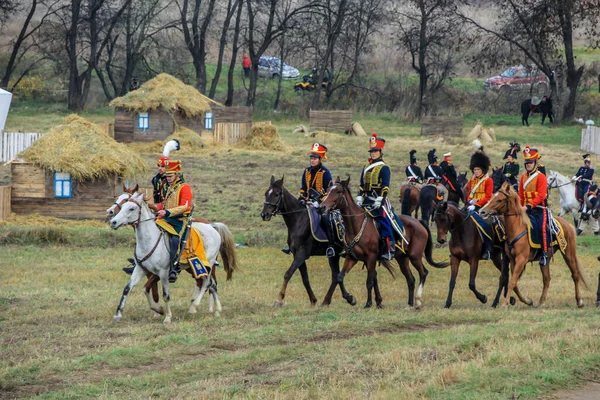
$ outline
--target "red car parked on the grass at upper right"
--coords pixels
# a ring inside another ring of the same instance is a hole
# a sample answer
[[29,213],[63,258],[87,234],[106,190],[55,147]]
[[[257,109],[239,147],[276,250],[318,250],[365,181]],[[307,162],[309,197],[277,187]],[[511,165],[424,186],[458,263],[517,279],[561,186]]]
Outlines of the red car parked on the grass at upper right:
[[519,65],[508,68],[498,76],[486,79],[483,88],[484,90],[510,93],[512,91],[528,91],[532,85],[535,93],[543,95],[549,92],[550,81],[536,67]]

